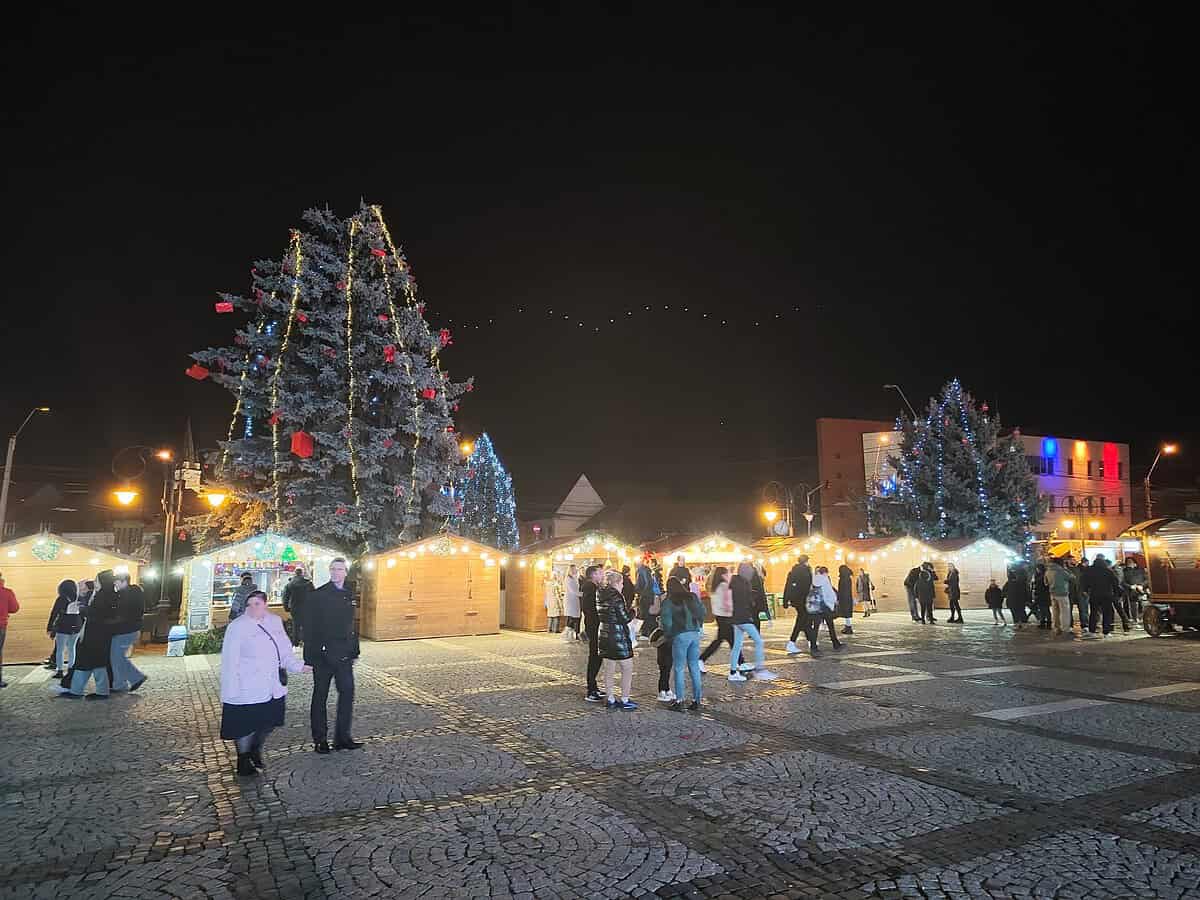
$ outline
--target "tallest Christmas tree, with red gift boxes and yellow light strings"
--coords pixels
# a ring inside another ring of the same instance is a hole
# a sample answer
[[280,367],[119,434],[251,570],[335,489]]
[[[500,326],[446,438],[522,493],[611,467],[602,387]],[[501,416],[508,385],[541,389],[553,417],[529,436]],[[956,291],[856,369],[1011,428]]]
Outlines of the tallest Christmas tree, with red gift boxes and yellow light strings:
[[434,331],[378,206],[304,215],[280,260],[251,269],[234,344],[192,354],[193,378],[235,397],[214,476],[234,503],[224,536],[271,528],[350,551],[413,540],[461,511],[452,413],[470,382]]

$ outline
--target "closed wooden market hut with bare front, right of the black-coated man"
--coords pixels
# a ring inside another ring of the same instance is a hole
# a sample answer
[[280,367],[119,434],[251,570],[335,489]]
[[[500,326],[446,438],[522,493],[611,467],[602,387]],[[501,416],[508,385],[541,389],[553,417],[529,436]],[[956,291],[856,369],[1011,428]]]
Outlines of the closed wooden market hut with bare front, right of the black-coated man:
[[372,641],[500,630],[500,569],[508,554],[439,534],[362,559],[361,634]]

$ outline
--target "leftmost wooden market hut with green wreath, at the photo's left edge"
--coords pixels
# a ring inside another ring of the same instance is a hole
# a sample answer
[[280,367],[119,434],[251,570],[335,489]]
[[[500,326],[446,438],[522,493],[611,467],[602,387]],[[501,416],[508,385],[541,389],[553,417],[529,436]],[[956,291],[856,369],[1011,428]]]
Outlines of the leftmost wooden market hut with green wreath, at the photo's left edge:
[[139,581],[142,563],[133,557],[96,550],[56,534],[31,534],[0,544],[0,577],[20,604],[8,618],[4,643],[6,662],[41,662],[53,649],[46,623],[59,594],[59,583],[95,578],[112,569]]

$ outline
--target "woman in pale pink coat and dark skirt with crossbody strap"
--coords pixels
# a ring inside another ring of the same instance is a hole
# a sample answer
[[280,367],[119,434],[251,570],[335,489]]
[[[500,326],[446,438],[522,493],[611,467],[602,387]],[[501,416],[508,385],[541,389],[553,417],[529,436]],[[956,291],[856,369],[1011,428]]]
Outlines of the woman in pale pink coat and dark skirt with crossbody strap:
[[246,598],[221,647],[221,738],[238,746],[238,774],[263,768],[263,742],[283,725],[288,672],[312,672],[292,652],[283,619],[266,611],[266,594]]

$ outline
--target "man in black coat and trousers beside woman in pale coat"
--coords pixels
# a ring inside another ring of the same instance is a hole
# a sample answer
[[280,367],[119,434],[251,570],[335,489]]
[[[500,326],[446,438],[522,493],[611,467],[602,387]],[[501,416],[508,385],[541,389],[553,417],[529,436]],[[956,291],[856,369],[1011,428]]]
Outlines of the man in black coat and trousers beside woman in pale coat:
[[354,714],[354,661],[359,658],[359,636],[354,630],[354,598],[346,588],[346,560],[329,564],[329,581],[305,600],[304,661],[312,666],[312,744],[318,754],[329,752],[329,683],[337,685],[335,750],[358,750],[361,742],[350,737]]

